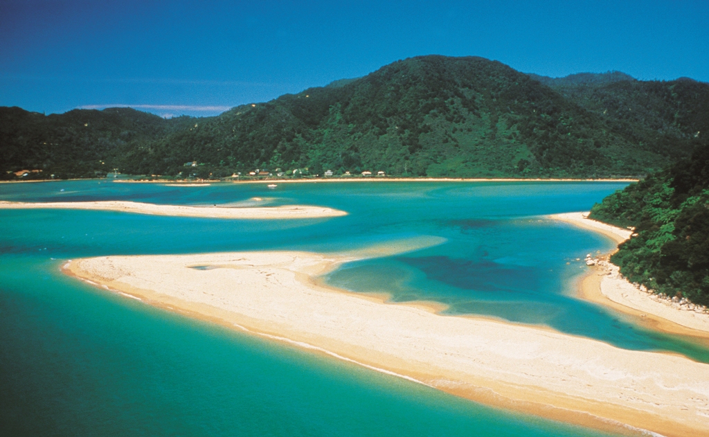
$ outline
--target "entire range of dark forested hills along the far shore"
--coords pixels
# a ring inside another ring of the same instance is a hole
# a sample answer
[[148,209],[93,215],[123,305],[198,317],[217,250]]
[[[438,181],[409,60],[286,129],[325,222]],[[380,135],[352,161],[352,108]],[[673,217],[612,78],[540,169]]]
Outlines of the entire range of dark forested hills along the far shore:
[[709,84],[691,79],[552,79],[481,57],[430,55],[210,118],[0,108],[0,170],[5,178],[18,170],[42,170],[23,178],[94,177],[114,168],[169,177],[255,169],[642,177],[688,156],[709,131],[708,114]]

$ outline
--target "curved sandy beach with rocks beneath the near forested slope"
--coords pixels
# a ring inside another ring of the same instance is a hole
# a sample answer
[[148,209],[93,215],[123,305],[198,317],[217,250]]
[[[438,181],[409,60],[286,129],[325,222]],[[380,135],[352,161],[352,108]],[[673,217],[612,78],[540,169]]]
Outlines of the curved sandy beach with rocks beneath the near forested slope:
[[[549,218],[603,233],[618,244],[623,243],[632,234],[632,231],[627,229],[586,219],[587,215],[588,213],[578,212],[554,214]],[[642,319],[642,324],[660,331],[709,338],[709,314],[705,313],[703,308],[694,309],[694,306],[668,302],[659,299],[652,292],[642,291],[620,275],[617,266],[604,258],[608,258],[608,255],[596,260],[596,265],[591,267],[591,275],[597,279],[588,278],[581,282],[581,297],[637,316]]]

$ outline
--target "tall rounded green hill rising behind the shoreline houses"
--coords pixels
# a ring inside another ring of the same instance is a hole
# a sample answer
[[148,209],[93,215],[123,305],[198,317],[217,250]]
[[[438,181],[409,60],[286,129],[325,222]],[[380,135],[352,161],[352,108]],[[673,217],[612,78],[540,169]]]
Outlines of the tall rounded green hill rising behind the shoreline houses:
[[198,160],[228,171],[618,177],[658,170],[692,147],[691,141],[639,143],[632,129],[614,129],[609,117],[500,62],[442,56],[240,106],[157,143],[127,167],[171,174]]

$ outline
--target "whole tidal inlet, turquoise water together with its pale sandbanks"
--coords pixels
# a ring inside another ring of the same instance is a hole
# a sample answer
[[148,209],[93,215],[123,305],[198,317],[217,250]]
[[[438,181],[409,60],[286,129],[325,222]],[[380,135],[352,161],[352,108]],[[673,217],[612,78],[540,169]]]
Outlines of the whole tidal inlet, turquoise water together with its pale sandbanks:
[[1,415],[10,435],[702,435],[709,316],[614,272],[632,231],[587,218],[627,185],[6,184]]

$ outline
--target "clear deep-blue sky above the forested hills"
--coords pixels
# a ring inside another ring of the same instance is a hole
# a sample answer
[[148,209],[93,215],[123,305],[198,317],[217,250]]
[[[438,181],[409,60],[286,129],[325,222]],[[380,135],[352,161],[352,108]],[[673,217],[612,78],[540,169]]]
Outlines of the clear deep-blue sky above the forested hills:
[[0,0],[0,106],[213,115],[416,55],[709,82],[709,1]]

